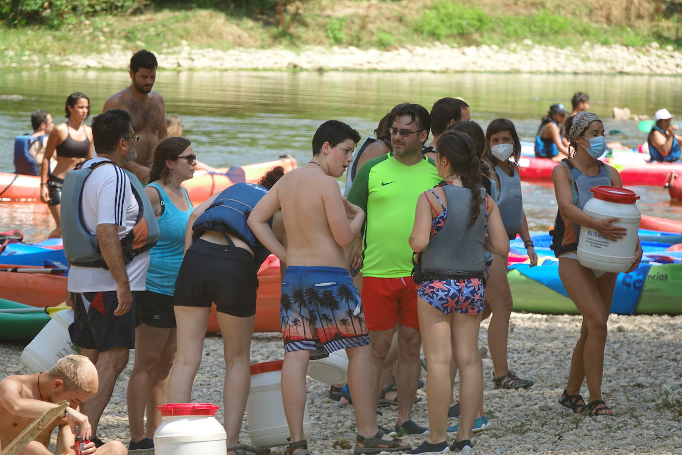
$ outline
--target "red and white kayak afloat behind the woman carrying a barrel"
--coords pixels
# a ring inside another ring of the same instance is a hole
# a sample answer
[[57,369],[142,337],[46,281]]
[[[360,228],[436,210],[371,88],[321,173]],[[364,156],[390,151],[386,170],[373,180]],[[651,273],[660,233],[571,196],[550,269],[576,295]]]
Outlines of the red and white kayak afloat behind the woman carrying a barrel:
[[[671,172],[682,175],[682,163],[621,164],[613,158],[604,158],[621,174],[624,186],[664,186]],[[552,169],[557,163],[546,158],[521,156],[518,160],[521,179],[525,181],[552,181]]]

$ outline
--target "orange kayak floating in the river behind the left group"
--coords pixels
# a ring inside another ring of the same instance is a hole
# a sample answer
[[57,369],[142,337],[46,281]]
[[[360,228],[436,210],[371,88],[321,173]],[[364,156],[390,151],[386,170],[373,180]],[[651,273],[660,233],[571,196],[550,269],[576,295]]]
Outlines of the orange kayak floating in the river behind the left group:
[[[242,181],[258,183],[263,174],[275,166],[284,167],[286,173],[296,168],[296,160],[284,157],[276,161],[220,168],[217,173],[196,171],[194,178],[183,185],[192,202],[202,203],[211,194],[233,184]],[[0,201],[40,201],[40,177],[0,172]]]

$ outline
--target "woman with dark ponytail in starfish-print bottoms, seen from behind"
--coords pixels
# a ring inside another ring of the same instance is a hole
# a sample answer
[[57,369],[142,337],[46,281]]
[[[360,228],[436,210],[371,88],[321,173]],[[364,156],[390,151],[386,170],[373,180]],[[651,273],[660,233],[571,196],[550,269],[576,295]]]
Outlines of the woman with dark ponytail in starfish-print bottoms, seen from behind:
[[[484,307],[484,248],[507,254],[509,241],[495,203],[481,188],[481,161],[471,137],[447,131],[436,141],[443,181],[417,200],[410,246],[415,251],[419,325],[428,362],[430,435],[409,454],[471,450],[483,400],[478,331]],[[460,424],[447,445],[450,360],[460,370]]]

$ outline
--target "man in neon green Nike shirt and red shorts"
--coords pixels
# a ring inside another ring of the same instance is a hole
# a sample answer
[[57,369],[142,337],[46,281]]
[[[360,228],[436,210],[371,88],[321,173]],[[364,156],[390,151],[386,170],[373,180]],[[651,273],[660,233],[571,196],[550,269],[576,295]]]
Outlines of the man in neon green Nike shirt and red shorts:
[[430,123],[424,106],[405,103],[394,107],[389,128],[393,153],[366,162],[348,196],[367,214],[361,264],[356,268],[362,267],[361,297],[372,340],[376,399],[382,392],[381,377],[397,325],[400,353],[396,363],[396,431],[402,429],[412,435],[427,430],[410,418],[421,372],[421,336],[409,237],[417,197],[441,181],[433,160],[421,154]]

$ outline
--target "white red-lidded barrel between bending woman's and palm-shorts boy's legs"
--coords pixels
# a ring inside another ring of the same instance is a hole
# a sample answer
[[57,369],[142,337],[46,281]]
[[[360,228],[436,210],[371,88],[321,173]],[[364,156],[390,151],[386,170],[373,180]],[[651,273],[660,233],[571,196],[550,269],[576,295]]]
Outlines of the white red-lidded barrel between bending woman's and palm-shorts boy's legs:
[[[251,391],[246,402],[249,437],[256,447],[287,445],[289,427],[282,405],[282,360],[251,366]],[[303,434],[310,439],[308,402],[303,411]]]

